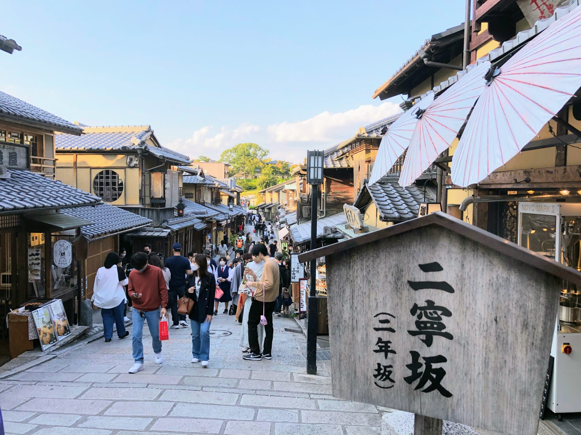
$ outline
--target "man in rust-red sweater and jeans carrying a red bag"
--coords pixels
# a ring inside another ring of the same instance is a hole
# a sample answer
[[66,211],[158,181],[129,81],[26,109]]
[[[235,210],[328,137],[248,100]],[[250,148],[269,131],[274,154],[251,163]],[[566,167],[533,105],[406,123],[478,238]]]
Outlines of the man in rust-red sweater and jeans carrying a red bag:
[[162,364],[162,342],[159,339],[159,318],[166,316],[167,285],[159,267],[148,263],[147,255],[138,252],[131,256],[135,268],[129,274],[128,294],[133,302],[133,359],[129,369],[137,373],[144,369],[144,345],[142,342],[144,321],[147,320],[155,353],[155,363]]

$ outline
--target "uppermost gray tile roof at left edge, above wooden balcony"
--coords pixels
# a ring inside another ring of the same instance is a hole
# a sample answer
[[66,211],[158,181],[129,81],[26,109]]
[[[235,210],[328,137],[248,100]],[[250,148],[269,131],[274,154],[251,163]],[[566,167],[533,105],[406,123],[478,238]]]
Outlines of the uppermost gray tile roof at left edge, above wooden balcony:
[[0,114],[6,115],[7,118],[13,118],[17,122],[27,120],[44,124],[50,130],[59,132],[73,133],[74,135],[80,135],[83,132],[80,126],[2,91],[0,91]]

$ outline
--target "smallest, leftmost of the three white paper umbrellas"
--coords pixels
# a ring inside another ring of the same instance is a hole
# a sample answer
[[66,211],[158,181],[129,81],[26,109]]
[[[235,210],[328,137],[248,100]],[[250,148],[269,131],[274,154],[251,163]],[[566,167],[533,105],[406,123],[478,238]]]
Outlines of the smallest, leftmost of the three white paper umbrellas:
[[425,109],[433,102],[434,95],[430,93],[424,99],[415,103],[413,107],[404,112],[397,121],[389,126],[379,144],[377,157],[371,170],[369,184],[374,184],[386,175],[396,162],[397,158],[406,151],[410,144],[411,136],[414,133],[415,124],[418,118],[414,113],[418,108]]

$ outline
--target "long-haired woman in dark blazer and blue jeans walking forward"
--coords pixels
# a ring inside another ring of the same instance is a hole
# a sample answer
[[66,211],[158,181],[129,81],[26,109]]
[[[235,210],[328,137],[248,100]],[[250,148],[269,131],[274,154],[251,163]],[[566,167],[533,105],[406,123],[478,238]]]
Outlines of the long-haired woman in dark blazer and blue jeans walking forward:
[[216,278],[208,272],[208,263],[205,255],[196,255],[194,261],[198,264],[195,272],[198,276],[190,280],[193,287],[185,293],[193,299],[192,311],[189,313],[189,322],[192,328],[192,362],[202,361],[202,367],[208,367],[210,359],[210,323],[214,309],[216,295]]

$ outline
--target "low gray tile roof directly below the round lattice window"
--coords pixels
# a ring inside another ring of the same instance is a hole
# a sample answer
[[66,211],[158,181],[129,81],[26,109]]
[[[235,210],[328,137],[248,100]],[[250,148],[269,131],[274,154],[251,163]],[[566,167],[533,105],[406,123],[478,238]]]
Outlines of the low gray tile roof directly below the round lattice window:
[[95,207],[67,208],[63,209],[63,213],[95,222],[92,225],[81,227],[81,234],[87,238],[130,231],[153,222],[151,219],[144,218],[144,216],[139,216],[110,204],[99,204]]

